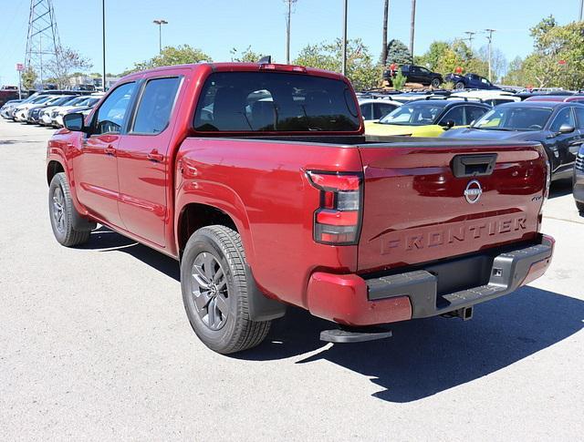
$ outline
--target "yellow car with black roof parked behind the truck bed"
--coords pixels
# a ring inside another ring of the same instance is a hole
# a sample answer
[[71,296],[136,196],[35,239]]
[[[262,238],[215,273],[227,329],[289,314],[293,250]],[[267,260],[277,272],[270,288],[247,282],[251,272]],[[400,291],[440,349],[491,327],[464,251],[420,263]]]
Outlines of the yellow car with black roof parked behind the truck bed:
[[367,135],[438,137],[444,130],[467,126],[491,109],[479,101],[423,99],[396,108],[377,122],[365,124]]

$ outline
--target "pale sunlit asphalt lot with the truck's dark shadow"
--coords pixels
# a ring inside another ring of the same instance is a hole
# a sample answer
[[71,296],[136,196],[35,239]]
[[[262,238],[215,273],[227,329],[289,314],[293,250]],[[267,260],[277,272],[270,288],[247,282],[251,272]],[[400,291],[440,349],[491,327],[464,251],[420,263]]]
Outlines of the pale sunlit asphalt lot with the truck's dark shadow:
[[0,439],[581,440],[584,218],[556,183],[547,274],[463,322],[318,341],[292,310],[266,344],[216,355],[177,262],[106,229],[80,249],[47,217],[52,130],[0,121]]

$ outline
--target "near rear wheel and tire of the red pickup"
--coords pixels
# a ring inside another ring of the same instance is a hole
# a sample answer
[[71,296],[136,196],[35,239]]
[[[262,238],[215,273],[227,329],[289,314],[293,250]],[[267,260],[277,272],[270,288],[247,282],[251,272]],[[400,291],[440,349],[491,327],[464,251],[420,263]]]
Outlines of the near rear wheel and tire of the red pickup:
[[249,318],[249,278],[236,231],[221,225],[203,227],[186,243],[181,261],[184,309],[194,333],[217,353],[227,355],[255,347],[270,330],[271,321]]

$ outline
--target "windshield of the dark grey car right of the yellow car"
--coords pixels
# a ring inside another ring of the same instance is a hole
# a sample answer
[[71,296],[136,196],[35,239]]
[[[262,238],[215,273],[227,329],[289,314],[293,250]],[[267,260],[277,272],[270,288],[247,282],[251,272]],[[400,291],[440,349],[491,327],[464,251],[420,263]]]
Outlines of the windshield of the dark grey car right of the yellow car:
[[489,130],[541,130],[552,114],[550,108],[499,107],[488,111],[473,128]]

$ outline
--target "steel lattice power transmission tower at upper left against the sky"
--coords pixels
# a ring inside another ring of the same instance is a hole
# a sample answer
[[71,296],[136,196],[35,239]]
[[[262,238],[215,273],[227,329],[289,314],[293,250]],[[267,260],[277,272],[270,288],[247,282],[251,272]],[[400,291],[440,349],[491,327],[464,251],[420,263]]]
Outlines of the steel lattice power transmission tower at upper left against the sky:
[[53,0],[30,0],[25,69],[33,69],[42,87],[47,62],[57,61],[60,45]]

